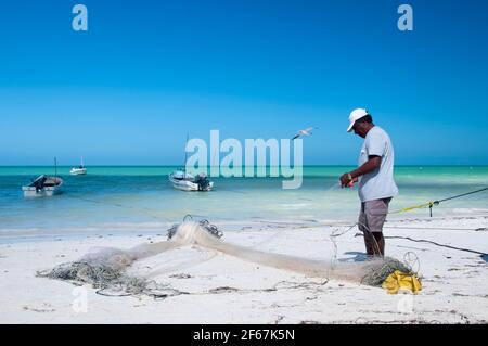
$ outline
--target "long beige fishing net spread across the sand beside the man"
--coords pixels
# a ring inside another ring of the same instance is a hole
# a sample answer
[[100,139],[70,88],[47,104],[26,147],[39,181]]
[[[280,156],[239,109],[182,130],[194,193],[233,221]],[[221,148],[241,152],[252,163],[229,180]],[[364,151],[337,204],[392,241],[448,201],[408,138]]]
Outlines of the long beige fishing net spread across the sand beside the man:
[[185,294],[153,280],[129,275],[126,269],[136,260],[170,249],[196,245],[248,261],[303,273],[309,277],[346,280],[380,286],[395,270],[411,273],[409,266],[394,258],[371,259],[359,262],[311,260],[295,256],[265,253],[220,240],[222,233],[208,221],[183,221],[168,230],[168,241],[142,244],[130,249],[102,248],[52,270],[38,272],[39,277],[91,284],[103,295],[150,295],[165,298]]

